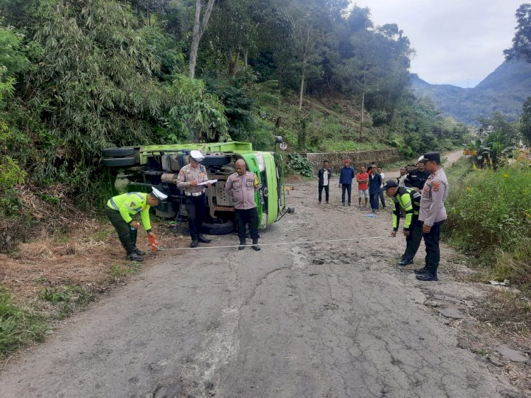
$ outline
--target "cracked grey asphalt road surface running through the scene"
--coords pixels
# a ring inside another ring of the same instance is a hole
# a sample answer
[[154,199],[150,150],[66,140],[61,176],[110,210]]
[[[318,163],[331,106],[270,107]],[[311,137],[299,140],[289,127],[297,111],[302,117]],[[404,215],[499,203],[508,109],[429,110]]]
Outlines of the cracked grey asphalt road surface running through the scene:
[[389,212],[341,206],[337,181],[330,205],[317,203],[316,182],[294,186],[295,214],[262,243],[357,240],[166,255],[11,360],[0,395],[518,396],[423,305],[429,284],[394,267],[405,241],[388,237]]

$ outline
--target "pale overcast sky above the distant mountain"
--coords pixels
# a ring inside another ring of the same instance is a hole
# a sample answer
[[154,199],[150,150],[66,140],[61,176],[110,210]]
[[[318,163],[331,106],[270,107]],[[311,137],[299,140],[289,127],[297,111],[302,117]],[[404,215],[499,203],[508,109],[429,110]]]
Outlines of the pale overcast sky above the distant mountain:
[[351,0],[375,25],[396,23],[416,51],[411,72],[430,84],[474,87],[503,62],[527,0]]

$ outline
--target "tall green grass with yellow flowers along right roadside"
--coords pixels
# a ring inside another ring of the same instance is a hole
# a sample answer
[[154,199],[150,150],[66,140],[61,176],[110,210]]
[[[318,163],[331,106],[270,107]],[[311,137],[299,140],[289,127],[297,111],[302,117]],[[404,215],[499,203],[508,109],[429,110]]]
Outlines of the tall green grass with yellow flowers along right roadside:
[[489,278],[531,294],[531,169],[474,170],[464,159],[447,170],[446,237],[476,256]]

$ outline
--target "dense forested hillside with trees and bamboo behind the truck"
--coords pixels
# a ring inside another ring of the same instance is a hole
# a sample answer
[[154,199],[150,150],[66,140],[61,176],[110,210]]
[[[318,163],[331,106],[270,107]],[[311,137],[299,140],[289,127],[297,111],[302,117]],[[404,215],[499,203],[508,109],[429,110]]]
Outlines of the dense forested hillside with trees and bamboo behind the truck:
[[466,127],[409,89],[406,35],[348,4],[0,0],[4,207],[18,214],[21,184],[103,198],[111,146],[268,149],[283,135],[301,151],[392,145],[414,156],[459,144]]

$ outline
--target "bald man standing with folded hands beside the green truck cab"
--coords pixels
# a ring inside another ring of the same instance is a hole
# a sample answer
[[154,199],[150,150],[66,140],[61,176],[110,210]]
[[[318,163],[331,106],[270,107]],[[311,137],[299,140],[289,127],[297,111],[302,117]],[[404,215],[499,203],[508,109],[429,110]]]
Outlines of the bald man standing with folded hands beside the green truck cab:
[[239,250],[245,249],[246,224],[249,224],[249,232],[253,239],[253,249],[258,251],[258,211],[256,210],[255,193],[258,191],[258,177],[247,171],[245,161],[239,159],[234,164],[236,173],[227,178],[225,192],[234,199],[234,211],[238,221],[238,235],[240,238]]

